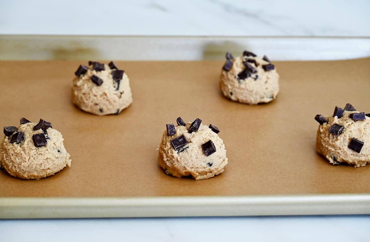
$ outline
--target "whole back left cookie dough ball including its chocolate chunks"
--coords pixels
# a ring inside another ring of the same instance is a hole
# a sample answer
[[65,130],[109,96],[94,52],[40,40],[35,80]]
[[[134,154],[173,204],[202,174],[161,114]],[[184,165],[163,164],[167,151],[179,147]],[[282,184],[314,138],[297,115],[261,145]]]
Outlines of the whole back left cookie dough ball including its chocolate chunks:
[[96,115],[119,114],[132,103],[128,76],[114,62],[89,61],[73,80],[72,99],[80,109]]

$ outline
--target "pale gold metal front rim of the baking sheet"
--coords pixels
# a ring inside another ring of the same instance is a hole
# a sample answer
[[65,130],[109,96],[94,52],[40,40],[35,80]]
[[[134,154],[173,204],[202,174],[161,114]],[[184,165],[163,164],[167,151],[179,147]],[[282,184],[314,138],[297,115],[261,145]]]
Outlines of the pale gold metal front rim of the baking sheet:
[[207,197],[0,198],[0,218],[370,214],[370,193]]

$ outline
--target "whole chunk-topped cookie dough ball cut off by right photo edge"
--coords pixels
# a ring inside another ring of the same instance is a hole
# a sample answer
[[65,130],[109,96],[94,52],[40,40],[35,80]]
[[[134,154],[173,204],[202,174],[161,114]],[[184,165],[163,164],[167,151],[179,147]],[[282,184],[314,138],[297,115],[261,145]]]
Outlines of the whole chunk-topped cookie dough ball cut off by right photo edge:
[[333,116],[315,119],[320,123],[316,150],[329,163],[361,167],[370,162],[370,114],[357,112],[347,103],[344,109],[336,107]]

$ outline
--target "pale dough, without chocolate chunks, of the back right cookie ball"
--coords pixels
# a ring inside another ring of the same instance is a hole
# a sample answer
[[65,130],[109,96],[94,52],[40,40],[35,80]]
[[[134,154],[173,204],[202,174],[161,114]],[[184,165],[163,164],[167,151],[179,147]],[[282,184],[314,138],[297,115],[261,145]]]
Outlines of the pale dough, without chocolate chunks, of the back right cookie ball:
[[[243,62],[246,59],[255,59],[258,66],[251,64],[257,69],[256,74],[251,74],[250,77],[238,80],[238,74],[245,68]],[[260,57],[236,57],[232,60],[233,65],[229,71],[222,69],[220,76],[220,88],[227,98],[248,104],[258,104],[271,102],[279,93],[279,74],[276,68],[272,71],[265,71],[262,65],[267,65],[269,62]],[[258,78],[255,80],[256,75]]]

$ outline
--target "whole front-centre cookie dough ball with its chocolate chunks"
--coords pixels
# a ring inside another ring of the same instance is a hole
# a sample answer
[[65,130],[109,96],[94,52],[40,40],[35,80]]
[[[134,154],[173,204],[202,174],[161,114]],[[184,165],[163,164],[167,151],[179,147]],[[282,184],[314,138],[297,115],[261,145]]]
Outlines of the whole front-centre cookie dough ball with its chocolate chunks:
[[159,145],[158,162],[166,174],[192,175],[195,180],[211,178],[228,164],[226,149],[217,127],[202,125],[202,120],[168,124]]

